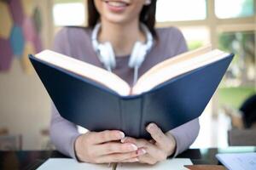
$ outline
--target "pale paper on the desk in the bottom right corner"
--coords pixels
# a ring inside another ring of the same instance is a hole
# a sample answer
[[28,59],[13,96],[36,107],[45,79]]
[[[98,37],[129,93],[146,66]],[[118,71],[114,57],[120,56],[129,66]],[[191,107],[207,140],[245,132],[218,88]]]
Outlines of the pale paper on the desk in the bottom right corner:
[[230,170],[255,170],[256,152],[217,154],[218,161]]

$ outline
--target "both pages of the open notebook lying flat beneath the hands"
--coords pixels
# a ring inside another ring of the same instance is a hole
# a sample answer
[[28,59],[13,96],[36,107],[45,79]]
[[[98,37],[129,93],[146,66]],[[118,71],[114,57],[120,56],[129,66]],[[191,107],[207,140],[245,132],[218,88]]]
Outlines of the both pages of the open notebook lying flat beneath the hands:
[[[172,160],[161,161],[160,163],[151,166],[139,163],[119,163],[117,170],[126,169],[137,169],[137,170],[165,170],[165,169],[175,169],[183,170],[187,169],[183,167],[184,165],[192,165],[189,159],[175,158]],[[44,164],[38,167],[38,170],[49,170],[49,169],[75,169],[75,170],[112,170],[112,167],[108,167],[107,164],[90,164],[90,163],[80,163],[74,159],[68,158],[51,158],[44,162]]]

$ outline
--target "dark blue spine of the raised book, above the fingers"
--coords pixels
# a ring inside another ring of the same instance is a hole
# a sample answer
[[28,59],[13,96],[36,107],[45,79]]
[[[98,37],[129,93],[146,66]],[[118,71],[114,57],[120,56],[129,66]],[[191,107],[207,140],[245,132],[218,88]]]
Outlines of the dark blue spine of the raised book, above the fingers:
[[121,130],[125,136],[139,138],[142,119],[142,99],[120,99]]

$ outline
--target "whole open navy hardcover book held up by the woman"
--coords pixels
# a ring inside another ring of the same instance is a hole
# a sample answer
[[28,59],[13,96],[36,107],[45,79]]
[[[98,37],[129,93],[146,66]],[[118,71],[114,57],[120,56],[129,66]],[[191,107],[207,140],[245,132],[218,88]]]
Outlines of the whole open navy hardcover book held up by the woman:
[[29,58],[62,117],[90,131],[119,129],[149,138],[149,122],[166,132],[200,116],[233,54],[210,46],[179,54],[145,72],[133,87],[102,68],[49,50]]

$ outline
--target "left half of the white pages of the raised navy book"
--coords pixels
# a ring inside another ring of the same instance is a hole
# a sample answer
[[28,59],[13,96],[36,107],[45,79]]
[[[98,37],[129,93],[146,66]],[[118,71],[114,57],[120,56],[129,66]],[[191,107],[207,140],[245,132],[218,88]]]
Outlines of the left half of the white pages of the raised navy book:
[[103,86],[112,89],[117,94],[129,95],[131,88],[127,82],[116,76],[112,72],[106,71],[95,65],[90,65],[79,59],[73,59],[63,54],[58,54],[50,50],[44,50],[35,55],[36,58],[43,60],[51,65],[55,65],[66,71],[73,72],[81,77],[89,78]]

